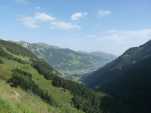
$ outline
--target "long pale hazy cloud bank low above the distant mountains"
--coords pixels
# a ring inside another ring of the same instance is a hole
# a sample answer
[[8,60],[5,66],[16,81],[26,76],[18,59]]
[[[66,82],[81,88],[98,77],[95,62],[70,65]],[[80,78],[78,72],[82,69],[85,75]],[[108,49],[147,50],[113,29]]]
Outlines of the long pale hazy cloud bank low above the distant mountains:
[[[82,37],[82,38],[81,38]],[[80,51],[103,51],[121,55],[127,49],[151,40],[151,28],[141,30],[109,30],[94,34],[76,34],[73,38],[52,39],[50,44]]]

